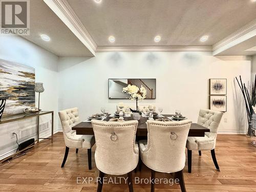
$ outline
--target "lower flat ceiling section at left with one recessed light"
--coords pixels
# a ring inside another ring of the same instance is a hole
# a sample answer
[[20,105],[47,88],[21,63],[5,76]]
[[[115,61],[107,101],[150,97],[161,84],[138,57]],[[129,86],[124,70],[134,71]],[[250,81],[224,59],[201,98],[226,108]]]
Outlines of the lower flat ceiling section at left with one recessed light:
[[[42,40],[41,34],[47,34],[51,40]],[[30,1],[30,35],[23,37],[57,56],[93,56],[41,0]]]

